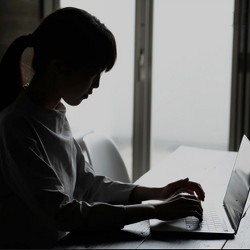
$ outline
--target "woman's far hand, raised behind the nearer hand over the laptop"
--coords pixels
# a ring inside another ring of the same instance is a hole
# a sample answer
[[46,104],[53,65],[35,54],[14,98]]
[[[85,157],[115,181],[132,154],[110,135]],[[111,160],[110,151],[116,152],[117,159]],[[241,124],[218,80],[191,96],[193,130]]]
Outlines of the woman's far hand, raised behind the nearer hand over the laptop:
[[168,199],[180,193],[188,193],[190,195],[196,194],[199,200],[204,201],[205,199],[205,192],[203,191],[201,185],[199,183],[189,181],[188,178],[172,182],[161,188],[160,199]]

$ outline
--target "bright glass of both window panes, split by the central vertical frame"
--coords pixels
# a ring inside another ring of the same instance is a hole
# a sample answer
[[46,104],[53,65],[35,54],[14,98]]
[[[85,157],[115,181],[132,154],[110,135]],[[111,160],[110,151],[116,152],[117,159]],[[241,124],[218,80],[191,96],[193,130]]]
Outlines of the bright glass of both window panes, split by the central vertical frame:
[[[153,2],[151,167],[180,145],[227,150],[234,1]],[[91,130],[111,135],[130,177],[135,3],[61,0],[61,7],[75,6],[96,15],[116,37],[114,69],[103,75],[87,102],[68,107],[68,118],[76,137]]]

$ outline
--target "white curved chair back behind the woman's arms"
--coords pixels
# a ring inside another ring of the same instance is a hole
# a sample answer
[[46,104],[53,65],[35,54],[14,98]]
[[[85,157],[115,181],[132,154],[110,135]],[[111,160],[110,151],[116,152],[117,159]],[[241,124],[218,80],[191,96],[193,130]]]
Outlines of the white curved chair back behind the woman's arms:
[[131,182],[118,147],[110,137],[90,132],[78,138],[77,142],[97,175],[104,175],[115,181]]

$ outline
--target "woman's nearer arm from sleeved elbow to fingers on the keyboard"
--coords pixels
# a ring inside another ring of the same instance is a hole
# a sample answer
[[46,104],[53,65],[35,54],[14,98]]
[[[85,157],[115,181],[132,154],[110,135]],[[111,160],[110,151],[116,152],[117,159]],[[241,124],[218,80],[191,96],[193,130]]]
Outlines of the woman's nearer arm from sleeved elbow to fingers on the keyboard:
[[176,195],[157,204],[115,206],[74,201],[60,209],[57,225],[61,230],[109,230],[147,219],[173,220],[195,216],[202,220],[200,200],[194,195]]

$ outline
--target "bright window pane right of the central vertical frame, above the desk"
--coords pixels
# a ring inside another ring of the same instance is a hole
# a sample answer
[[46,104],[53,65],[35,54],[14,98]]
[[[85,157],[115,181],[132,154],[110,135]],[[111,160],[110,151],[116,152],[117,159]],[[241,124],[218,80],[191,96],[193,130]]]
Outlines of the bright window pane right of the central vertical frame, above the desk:
[[151,167],[179,145],[227,150],[233,0],[155,0]]

